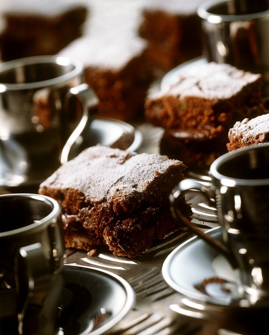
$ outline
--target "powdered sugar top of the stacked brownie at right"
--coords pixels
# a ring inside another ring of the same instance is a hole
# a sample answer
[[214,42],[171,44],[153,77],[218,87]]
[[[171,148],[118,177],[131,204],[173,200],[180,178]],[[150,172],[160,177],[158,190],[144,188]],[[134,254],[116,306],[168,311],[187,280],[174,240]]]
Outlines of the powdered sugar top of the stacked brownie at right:
[[229,64],[211,62],[200,66],[196,73],[181,71],[177,83],[151,95],[150,98],[173,95],[181,98],[197,96],[210,100],[228,99],[260,78],[260,74],[239,70]]

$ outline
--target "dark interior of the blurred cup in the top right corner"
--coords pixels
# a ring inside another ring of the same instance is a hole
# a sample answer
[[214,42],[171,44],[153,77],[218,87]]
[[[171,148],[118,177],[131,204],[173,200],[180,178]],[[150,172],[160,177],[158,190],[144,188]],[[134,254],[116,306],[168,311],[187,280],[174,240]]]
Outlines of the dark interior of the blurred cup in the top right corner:
[[223,1],[207,9],[215,15],[244,15],[269,10],[268,0],[231,0]]

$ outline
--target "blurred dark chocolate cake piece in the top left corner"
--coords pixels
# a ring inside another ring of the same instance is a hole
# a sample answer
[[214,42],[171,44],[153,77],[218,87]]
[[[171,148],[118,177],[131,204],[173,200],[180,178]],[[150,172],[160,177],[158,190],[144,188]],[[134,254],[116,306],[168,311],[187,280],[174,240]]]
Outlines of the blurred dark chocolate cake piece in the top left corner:
[[1,59],[53,55],[82,35],[87,7],[66,0],[12,0],[0,7]]

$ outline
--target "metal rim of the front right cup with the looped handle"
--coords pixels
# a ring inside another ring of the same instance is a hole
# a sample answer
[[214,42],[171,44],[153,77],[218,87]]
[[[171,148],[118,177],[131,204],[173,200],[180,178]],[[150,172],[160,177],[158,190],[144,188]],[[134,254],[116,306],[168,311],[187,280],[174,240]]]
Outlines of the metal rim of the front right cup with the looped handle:
[[232,178],[227,177],[220,174],[217,170],[220,164],[226,162],[230,159],[230,157],[238,156],[244,154],[245,151],[255,150],[255,148],[269,147],[269,143],[261,143],[250,145],[245,148],[239,148],[230,152],[225,153],[224,155],[217,158],[210,166],[210,173],[213,177],[218,179],[222,185],[224,186],[264,186],[269,185],[269,178],[265,179],[240,179],[240,178]]

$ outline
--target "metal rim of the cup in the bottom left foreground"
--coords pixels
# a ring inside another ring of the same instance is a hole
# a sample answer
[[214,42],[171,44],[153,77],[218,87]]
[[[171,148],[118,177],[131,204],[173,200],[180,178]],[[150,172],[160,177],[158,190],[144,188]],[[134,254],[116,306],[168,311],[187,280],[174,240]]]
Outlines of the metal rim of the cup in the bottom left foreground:
[[34,223],[31,223],[29,225],[26,225],[24,227],[20,227],[17,229],[13,230],[7,230],[0,232],[0,238],[4,237],[14,237],[15,235],[19,235],[25,232],[29,232],[30,230],[36,229],[37,227],[41,226],[48,226],[50,223],[53,223],[52,220],[55,218],[57,220],[57,217],[61,213],[61,208],[58,202],[50,197],[47,197],[45,195],[40,195],[40,194],[32,194],[32,193],[15,193],[15,194],[3,194],[0,195],[0,201],[3,198],[31,198],[31,199],[36,199],[39,201],[44,201],[44,202],[50,202],[50,204],[53,205],[53,209],[50,212],[49,215],[43,217],[41,220],[38,220]]

